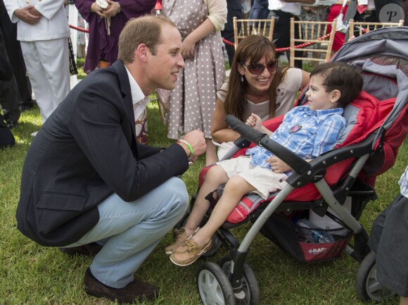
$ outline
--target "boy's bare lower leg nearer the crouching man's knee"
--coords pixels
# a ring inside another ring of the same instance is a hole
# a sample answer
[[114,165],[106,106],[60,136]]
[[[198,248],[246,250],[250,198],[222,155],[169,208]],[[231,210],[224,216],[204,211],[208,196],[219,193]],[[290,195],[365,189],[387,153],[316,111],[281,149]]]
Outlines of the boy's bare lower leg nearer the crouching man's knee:
[[212,166],[212,168],[208,170],[203,185],[201,185],[200,190],[198,191],[197,199],[196,202],[194,202],[190,216],[184,225],[184,230],[186,231],[187,236],[196,231],[201,220],[203,220],[205,213],[210,207],[210,203],[205,199],[205,196],[227,181],[227,173],[225,173],[221,166]]

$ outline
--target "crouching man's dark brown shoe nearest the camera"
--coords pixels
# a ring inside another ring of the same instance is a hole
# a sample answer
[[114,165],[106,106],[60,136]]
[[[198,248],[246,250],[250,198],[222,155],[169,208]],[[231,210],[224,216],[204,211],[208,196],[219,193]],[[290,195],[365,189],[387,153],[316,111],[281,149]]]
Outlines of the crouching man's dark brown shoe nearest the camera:
[[103,285],[94,278],[89,268],[85,272],[84,289],[87,294],[94,297],[105,297],[120,304],[133,303],[134,301],[151,301],[158,296],[158,287],[146,282],[134,280],[123,288],[113,288]]

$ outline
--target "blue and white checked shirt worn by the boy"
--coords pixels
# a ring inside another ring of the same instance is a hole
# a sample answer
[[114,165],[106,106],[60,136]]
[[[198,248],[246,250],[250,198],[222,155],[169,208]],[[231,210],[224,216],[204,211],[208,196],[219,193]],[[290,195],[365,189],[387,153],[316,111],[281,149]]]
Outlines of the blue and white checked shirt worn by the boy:
[[[345,129],[346,120],[342,113],[343,108],[310,110],[309,106],[295,107],[286,113],[270,138],[301,158],[316,158],[336,145],[340,132]],[[246,155],[251,157],[254,167],[271,168],[267,158],[274,154],[267,149],[253,147],[246,151]]]

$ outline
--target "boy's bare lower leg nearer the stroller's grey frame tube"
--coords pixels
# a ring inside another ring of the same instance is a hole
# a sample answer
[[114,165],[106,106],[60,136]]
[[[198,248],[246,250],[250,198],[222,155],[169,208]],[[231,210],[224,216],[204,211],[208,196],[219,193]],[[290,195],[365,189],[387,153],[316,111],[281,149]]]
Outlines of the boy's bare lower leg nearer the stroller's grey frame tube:
[[229,214],[234,210],[239,201],[241,201],[241,198],[254,190],[255,187],[250,185],[239,175],[235,175],[228,180],[222,197],[217,202],[214,211],[212,211],[210,219],[203,228],[198,230],[196,235],[191,238],[193,242],[200,246],[208,244],[212,235],[214,235],[215,231],[227,220]]

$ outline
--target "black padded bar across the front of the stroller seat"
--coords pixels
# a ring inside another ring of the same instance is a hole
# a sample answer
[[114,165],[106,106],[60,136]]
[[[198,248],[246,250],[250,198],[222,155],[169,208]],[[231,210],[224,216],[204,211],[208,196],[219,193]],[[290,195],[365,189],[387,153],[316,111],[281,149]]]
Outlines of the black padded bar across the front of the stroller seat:
[[300,158],[300,156],[293,154],[292,151],[283,147],[281,144],[270,139],[267,134],[255,130],[243,123],[241,120],[230,114],[225,117],[225,122],[236,132],[238,132],[241,137],[248,139],[248,141],[253,142],[260,147],[264,147],[267,150],[278,156],[283,162],[291,166],[295,173],[302,175],[310,170],[310,163]]

